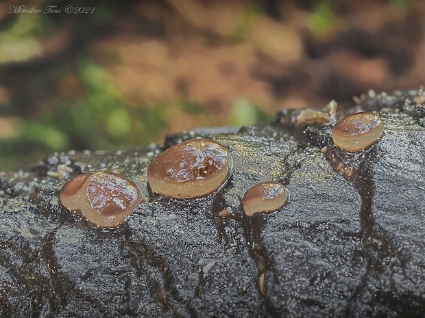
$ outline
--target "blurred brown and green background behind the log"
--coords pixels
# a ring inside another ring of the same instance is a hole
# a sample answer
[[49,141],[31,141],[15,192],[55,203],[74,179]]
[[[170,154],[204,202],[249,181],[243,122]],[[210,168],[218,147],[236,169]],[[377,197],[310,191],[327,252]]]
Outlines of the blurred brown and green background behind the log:
[[424,18],[423,0],[2,1],[0,170],[417,88]]

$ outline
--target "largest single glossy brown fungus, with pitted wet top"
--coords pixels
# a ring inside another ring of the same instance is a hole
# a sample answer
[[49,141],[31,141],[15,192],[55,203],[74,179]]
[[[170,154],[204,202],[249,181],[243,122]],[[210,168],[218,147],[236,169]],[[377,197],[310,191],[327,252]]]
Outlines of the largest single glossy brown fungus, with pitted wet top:
[[158,155],[147,169],[153,192],[171,198],[199,198],[226,184],[233,161],[214,140],[187,140]]

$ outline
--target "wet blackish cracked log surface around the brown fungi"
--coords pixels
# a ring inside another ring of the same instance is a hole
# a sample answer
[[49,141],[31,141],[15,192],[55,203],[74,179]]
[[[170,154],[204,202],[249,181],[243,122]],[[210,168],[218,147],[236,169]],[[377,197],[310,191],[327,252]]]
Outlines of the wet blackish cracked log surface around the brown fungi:
[[[421,317],[425,135],[418,106],[403,103],[416,93],[363,98],[367,111],[388,101],[384,135],[356,157],[350,180],[320,151],[333,149],[329,125],[297,131],[276,122],[210,134],[234,169],[205,198],[151,193],[146,173],[158,145],[58,154],[1,174],[0,315]],[[98,170],[123,174],[143,196],[115,230],[58,201],[71,176]],[[243,194],[262,181],[282,183],[289,202],[248,218]],[[230,217],[219,216],[226,208]]]

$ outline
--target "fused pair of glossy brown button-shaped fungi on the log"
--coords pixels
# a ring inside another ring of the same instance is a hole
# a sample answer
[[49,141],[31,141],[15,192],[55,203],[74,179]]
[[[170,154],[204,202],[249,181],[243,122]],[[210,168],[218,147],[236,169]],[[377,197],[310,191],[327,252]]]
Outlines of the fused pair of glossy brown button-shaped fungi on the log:
[[72,178],[60,190],[60,202],[71,211],[81,210],[99,228],[113,228],[133,213],[141,193],[121,174],[102,171]]

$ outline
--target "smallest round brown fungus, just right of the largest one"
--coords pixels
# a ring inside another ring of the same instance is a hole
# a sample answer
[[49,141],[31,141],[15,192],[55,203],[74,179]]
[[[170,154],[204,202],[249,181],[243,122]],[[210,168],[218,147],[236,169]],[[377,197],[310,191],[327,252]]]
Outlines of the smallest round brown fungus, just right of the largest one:
[[288,191],[283,185],[274,181],[265,181],[245,192],[242,206],[245,214],[252,216],[256,213],[278,211],[287,200]]

